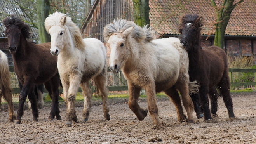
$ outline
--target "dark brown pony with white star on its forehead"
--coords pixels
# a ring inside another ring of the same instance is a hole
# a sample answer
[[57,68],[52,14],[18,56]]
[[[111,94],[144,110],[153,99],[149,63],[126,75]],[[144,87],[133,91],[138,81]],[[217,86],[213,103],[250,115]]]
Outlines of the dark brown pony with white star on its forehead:
[[[181,45],[185,47],[189,57],[190,81],[200,84],[198,94],[190,95],[194,103],[197,118],[204,116],[204,120],[212,119],[217,113],[217,90],[223,96],[228,109],[228,116],[235,117],[233,103],[230,96],[230,80],[228,76],[227,56],[223,49],[211,46],[201,47],[202,16],[188,14],[181,18]],[[209,109],[208,94],[211,99],[211,113]],[[204,112],[204,115],[202,114]]]

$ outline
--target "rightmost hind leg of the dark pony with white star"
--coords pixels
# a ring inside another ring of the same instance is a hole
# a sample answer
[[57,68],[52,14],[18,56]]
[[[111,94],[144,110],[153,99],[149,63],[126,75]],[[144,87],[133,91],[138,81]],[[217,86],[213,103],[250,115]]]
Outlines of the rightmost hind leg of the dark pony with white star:
[[226,105],[226,108],[228,109],[228,116],[230,118],[234,118],[235,114],[233,112],[233,102],[230,96],[230,80],[227,71],[223,74],[222,79],[217,84],[217,86],[221,95],[223,96],[223,101]]

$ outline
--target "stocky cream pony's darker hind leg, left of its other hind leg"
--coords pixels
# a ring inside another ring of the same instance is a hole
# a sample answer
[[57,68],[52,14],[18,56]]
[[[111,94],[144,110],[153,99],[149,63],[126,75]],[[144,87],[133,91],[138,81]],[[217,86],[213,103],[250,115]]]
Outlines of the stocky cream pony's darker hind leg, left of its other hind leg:
[[168,95],[171,99],[171,101],[173,102],[176,111],[177,111],[177,117],[178,117],[178,121],[183,122],[183,121],[187,121],[186,119],[186,115],[184,115],[183,113],[183,108],[181,106],[181,99],[179,97],[179,93],[178,91],[175,89],[175,87],[171,87],[167,90],[164,91],[166,95]]

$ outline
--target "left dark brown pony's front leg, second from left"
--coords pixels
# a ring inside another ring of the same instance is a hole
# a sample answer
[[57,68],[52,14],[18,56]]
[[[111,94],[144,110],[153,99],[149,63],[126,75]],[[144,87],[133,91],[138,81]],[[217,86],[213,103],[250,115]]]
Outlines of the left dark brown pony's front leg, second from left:
[[32,114],[33,114],[33,121],[36,122],[38,121],[38,109],[37,109],[37,99],[35,98],[35,93],[33,90],[30,91],[28,94],[28,99],[31,103],[31,109],[32,109]]

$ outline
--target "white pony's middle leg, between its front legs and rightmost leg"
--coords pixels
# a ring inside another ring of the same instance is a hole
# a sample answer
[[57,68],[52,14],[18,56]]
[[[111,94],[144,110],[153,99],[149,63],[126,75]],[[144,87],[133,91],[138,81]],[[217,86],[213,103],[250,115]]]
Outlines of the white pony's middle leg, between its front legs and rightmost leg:
[[91,104],[92,91],[91,91],[91,88],[89,87],[88,81],[81,83],[80,87],[82,88],[83,96],[84,96],[84,109],[83,109],[82,121],[87,121],[90,113],[90,108],[92,106]]

